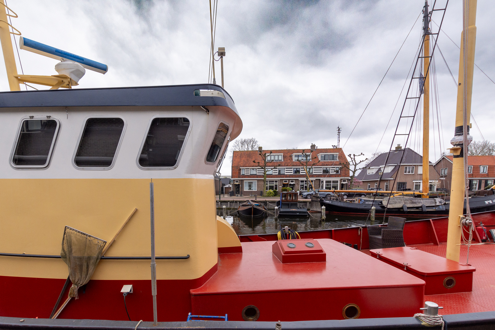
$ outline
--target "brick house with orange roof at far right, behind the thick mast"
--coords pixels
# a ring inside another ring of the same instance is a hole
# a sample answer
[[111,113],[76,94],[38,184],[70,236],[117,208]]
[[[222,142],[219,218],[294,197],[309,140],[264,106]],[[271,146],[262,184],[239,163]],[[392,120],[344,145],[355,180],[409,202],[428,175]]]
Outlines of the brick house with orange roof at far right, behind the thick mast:
[[[452,156],[442,156],[434,165],[441,188],[448,191],[452,182],[452,160]],[[469,190],[485,189],[495,183],[495,156],[468,156],[467,164]]]

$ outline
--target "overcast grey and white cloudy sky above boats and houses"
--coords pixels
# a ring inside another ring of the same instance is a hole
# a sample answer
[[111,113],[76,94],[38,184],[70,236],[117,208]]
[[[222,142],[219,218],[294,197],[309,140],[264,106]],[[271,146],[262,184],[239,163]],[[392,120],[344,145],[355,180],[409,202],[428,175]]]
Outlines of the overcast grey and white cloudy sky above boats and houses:
[[[438,2],[441,7],[444,1]],[[449,2],[443,25],[458,45],[461,3]],[[7,4],[19,15],[12,24],[24,37],[108,65],[105,75],[87,70],[79,88],[208,81],[208,0],[8,0]],[[423,5],[423,0],[218,0],[215,49],[226,48],[225,89],[244,123],[240,137],[254,137],[264,149],[308,148],[311,143],[326,148],[337,144],[340,126],[340,146],[346,154],[387,151],[404,102],[404,94],[399,94],[421,38],[421,17],[350,138],[349,134]],[[495,81],[493,17],[495,3],[478,0],[475,62]],[[457,81],[458,48],[444,33],[438,45]],[[56,74],[56,60],[25,50],[19,54],[25,74]],[[433,105],[431,161],[446,151],[453,136],[457,93],[440,53],[436,53],[436,69],[442,125],[439,132]],[[3,66],[0,88],[8,90]],[[484,138],[492,141],[494,101],[495,84],[475,68],[472,113]],[[471,135],[481,140],[471,122]],[[420,151],[417,130],[414,124],[409,145]],[[230,174],[228,158],[221,173]]]

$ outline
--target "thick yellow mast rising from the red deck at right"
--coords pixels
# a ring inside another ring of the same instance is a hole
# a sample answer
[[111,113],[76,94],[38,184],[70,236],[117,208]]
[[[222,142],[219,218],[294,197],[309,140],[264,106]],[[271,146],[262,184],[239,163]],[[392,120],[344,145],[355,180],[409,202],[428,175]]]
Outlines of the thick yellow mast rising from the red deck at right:
[[[467,47],[466,53],[466,74],[464,75],[464,32],[461,34],[461,51],[459,56],[459,86],[457,87],[457,108],[455,113],[455,136],[451,143],[454,145],[450,148],[453,153],[452,164],[452,184],[450,189],[450,208],[448,212],[448,232],[447,232],[447,253],[446,258],[459,261],[461,227],[460,216],[463,214],[464,194],[465,194],[465,175],[464,175],[464,155],[462,134],[464,131],[464,101],[466,102],[466,118],[471,117],[471,95],[473,92],[473,69],[474,69],[474,49],[476,45],[476,4],[477,0],[464,0],[464,15],[468,16],[467,24],[463,28],[467,29]],[[469,7],[468,7],[469,6]],[[466,79],[464,79],[466,77]],[[464,85],[465,80],[465,85]],[[466,99],[464,99],[464,93]],[[467,132],[469,133],[469,123]],[[457,141],[455,141],[457,140]],[[460,140],[460,141],[459,141]],[[467,147],[467,146],[466,146]]]

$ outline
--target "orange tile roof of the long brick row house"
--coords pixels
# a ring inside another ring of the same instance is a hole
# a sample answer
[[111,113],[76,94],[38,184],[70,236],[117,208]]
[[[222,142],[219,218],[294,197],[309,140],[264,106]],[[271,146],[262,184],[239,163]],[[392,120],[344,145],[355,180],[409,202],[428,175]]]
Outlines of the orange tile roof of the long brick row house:
[[[302,150],[304,150],[305,153],[309,153],[309,149],[278,149],[278,150],[263,150],[263,153],[269,153],[272,151],[273,154],[283,154],[283,161],[281,162],[273,162],[274,165],[277,165],[277,167],[301,167],[301,164],[297,161],[293,161],[292,154],[294,153],[302,153]],[[316,155],[320,153],[338,153],[338,160],[322,160],[320,161],[316,167],[320,166],[342,166],[341,163],[348,164],[347,157],[344,154],[344,151],[342,148],[327,148],[327,149],[316,149],[315,151],[311,152],[311,156],[315,157]],[[234,151],[232,155],[232,178],[241,178],[241,167],[250,167],[250,168],[255,168],[258,165],[253,163],[252,161],[259,161],[262,164],[262,157],[259,155],[258,150],[250,150],[250,151]],[[308,165],[311,166],[312,164],[316,163],[318,160],[315,159],[312,162],[309,162]],[[303,162],[303,164],[305,164]],[[269,167],[269,166],[268,166]],[[306,175],[303,174],[289,174],[289,175],[274,175],[273,177],[278,177],[278,178],[293,178],[294,176],[300,176],[300,177],[305,177]],[[349,176],[349,170],[347,168],[341,167],[340,174],[310,174],[310,177],[348,177]],[[244,177],[244,176],[242,176]],[[248,178],[257,178],[260,177],[262,178],[262,175],[249,175],[246,176]],[[270,176],[272,177],[272,176]]]

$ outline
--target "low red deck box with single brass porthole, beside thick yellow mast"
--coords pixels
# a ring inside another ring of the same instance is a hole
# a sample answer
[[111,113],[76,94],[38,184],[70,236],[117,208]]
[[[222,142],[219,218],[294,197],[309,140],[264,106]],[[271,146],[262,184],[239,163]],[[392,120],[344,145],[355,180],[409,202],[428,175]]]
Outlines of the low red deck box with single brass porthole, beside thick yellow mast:
[[[471,265],[461,265],[456,261],[418,250],[415,247],[391,247],[370,250],[371,255],[379,252],[379,259],[389,265],[426,282],[425,294],[470,292],[473,290]],[[406,264],[406,265],[404,265]]]

